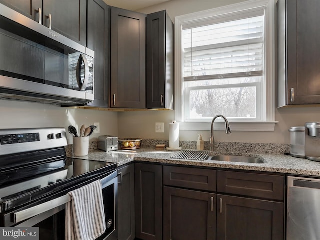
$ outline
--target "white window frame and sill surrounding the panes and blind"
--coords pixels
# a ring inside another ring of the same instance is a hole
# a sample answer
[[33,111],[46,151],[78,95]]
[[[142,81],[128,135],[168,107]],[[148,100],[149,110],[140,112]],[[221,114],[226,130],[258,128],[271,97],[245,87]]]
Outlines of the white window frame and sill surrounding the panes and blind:
[[[186,94],[183,87],[182,26],[196,26],[198,22],[213,22],[216,19],[232,19],[232,16],[247,11],[265,11],[265,106],[261,120],[230,119],[232,131],[274,131],[275,121],[275,4],[276,0],[249,0],[205,11],[175,17],[175,120],[180,130],[210,130],[211,120],[186,121],[184,119]],[[224,123],[217,118],[215,130],[224,130]]]

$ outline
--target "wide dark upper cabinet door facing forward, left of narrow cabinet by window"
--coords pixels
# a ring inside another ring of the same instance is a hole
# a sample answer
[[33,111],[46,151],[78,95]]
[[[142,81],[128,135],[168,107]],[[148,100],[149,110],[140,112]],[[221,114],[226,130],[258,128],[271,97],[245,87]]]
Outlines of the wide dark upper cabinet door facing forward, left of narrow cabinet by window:
[[111,107],[145,108],[145,15],[111,8]]

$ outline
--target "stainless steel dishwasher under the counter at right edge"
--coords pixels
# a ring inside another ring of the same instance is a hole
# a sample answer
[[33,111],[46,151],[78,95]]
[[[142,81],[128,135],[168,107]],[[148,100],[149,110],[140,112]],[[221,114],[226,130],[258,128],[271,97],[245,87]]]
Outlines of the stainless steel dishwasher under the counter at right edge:
[[320,179],[288,176],[287,240],[320,239]]

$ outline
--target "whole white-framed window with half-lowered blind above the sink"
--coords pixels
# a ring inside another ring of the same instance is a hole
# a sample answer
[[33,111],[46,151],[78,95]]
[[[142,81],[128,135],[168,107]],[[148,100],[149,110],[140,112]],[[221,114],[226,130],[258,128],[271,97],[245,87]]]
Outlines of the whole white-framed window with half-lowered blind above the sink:
[[206,130],[217,114],[232,130],[274,129],[274,4],[254,0],[176,17],[181,129]]

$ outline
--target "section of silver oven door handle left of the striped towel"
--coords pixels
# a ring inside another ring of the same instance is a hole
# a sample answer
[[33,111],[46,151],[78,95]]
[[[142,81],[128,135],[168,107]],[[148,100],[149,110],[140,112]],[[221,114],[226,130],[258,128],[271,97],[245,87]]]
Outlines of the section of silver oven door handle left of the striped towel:
[[64,205],[65,203],[69,202],[70,200],[71,200],[71,198],[67,194],[67,195],[58,197],[56,199],[53,199],[51,201],[47,201],[47,202],[41,203],[39,205],[27,208],[25,210],[21,210],[21,211],[12,213],[11,214],[11,221],[14,223],[24,221],[30,217],[36,216],[36,215],[41,214],[43,212],[46,212],[48,210],[54,209],[58,206]]

